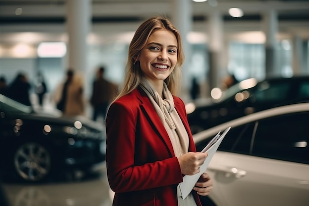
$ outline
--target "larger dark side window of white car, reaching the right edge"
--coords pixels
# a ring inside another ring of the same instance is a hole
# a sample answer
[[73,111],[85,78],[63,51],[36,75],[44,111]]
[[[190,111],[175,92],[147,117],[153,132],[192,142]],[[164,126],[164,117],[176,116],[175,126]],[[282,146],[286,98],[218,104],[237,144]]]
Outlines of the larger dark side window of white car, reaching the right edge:
[[260,121],[252,155],[309,164],[309,113]]

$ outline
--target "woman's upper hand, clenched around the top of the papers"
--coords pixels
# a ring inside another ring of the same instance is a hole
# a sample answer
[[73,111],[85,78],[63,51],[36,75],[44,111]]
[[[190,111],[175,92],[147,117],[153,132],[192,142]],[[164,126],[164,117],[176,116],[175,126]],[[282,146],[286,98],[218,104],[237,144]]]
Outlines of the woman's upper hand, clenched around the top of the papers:
[[204,163],[207,156],[207,153],[188,152],[178,157],[181,173],[187,175],[198,173],[200,171],[199,166]]

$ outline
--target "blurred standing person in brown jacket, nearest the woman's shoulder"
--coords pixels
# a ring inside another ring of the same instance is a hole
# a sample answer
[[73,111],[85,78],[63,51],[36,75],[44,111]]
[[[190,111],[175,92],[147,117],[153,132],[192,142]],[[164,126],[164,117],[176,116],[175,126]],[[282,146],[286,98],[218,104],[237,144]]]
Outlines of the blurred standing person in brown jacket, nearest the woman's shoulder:
[[99,67],[96,72],[96,80],[93,82],[92,86],[90,103],[93,107],[92,119],[94,121],[96,121],[99,116],[105,119],[107,108],[117,94],[116,84],[106,80],[104,73],[105,67]]

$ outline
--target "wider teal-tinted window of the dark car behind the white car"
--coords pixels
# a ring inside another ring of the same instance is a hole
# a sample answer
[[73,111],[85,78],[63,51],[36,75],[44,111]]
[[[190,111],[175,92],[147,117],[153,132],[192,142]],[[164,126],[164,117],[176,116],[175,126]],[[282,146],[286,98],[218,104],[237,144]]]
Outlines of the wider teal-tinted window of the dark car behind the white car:
[[256,102],[273,102],[287,99],[290,84],[284,82],[262,82],[255,90]]

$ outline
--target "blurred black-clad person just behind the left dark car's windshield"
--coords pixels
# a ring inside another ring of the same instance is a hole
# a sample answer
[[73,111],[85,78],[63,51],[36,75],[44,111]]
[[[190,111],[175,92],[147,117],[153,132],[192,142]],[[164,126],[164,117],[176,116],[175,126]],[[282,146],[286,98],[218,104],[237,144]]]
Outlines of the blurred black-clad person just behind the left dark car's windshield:
[[30,89],[31,84],[28,82],[26,75],[20,72],[8,86],[8,97],[24,105],[31,106]]

